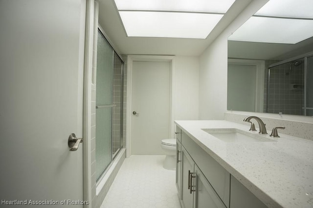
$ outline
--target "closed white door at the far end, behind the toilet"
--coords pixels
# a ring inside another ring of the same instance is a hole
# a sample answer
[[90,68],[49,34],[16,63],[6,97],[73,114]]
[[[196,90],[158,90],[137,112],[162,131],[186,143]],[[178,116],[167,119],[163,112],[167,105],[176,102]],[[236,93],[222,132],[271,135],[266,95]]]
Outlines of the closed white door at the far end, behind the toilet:
[[132,154],[164,154],[161,140],[170,129],[170,62],[134,61]]

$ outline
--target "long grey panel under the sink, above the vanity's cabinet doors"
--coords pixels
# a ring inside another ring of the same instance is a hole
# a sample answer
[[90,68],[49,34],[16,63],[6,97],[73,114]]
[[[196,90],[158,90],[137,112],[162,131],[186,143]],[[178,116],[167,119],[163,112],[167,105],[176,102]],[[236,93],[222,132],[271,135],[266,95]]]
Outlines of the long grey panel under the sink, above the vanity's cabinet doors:
[[201,168],[203,175],[229,207],[230,174],[215,159],[196,144],[185,132],[181,132],[181,144]]

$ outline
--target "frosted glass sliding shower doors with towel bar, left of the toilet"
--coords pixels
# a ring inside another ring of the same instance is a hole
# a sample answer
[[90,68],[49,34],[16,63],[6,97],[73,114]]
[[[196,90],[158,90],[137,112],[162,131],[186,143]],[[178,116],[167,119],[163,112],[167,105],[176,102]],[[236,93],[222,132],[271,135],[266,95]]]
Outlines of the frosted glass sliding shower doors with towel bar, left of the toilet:
[[98,30],[96,68],[96,180],[123,147],[123,61]]

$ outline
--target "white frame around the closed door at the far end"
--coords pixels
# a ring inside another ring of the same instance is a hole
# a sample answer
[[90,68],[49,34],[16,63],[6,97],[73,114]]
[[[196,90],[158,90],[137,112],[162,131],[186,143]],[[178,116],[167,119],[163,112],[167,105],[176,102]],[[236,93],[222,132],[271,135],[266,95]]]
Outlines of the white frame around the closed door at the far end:
[[127,98],[126,98],[126,157],[132,154],[132,84],[134,61],[164,61],[170,62],[170,128],[169,138],[174,138],[175,113],[175,56],[128,55],[127,56]]

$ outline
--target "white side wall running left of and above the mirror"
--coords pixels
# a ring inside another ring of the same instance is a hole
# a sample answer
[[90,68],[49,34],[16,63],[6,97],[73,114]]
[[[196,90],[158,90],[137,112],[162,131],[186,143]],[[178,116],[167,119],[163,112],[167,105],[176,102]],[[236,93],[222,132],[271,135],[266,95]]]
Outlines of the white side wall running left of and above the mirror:
[[227,110],[227,38],[268,0],[252,1],[200,56],[199,119],[224,119]]

